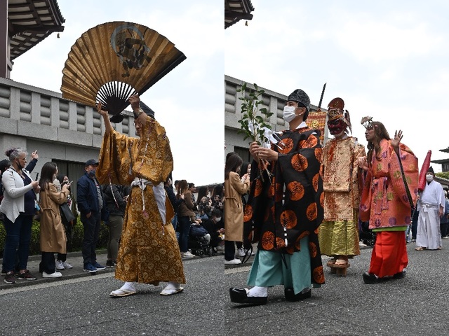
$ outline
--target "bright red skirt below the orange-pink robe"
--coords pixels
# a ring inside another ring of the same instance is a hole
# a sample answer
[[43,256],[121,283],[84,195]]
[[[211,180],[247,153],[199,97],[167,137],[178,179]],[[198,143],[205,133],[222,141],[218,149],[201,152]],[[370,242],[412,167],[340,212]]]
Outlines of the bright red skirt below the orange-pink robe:
[[408,265],[406,232],[380,231],[376,235],[376,244],[371,253],[371,264],[368,273],[392,276],[402,272]]

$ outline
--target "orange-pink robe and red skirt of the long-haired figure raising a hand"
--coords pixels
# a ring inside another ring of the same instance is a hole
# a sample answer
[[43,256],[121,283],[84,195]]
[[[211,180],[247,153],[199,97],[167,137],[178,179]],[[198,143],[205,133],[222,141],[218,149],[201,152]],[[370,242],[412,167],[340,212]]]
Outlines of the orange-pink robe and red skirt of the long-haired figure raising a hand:
[[399,144],[398,156],[391,141],[382,139],[377,158],[373,153],[360,203],[361,220],[369,220],[369,228],[377,232],[368,273],[394,276],[407,267],[405,230],[411,223],[410,202],[416,202],[417,187],[418,160],[413,152]]

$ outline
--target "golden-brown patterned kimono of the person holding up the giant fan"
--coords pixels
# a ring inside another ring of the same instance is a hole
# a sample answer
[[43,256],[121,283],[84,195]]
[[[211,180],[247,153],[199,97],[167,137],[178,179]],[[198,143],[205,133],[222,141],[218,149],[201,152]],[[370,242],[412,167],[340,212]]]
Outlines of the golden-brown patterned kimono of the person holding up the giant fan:
[[160,190],[157,187],[172,170],[170,143],[156,120],[147,117],[140,139],[116,131],[105,134],[98,180],[102,184],[137,184],[132,185],[123,218],[116,279],[154,285],[159,281],[185,283],[180,248],[171,224],[173,207],[165,197],[163,221],[163,204],[158,207],[156,201],[163,202],[164,197],[155,197]]

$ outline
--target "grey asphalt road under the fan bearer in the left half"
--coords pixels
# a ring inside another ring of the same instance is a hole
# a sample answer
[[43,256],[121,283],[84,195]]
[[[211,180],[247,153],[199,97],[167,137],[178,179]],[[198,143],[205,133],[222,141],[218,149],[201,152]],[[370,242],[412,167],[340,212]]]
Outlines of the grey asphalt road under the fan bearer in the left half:
[[166,283],[138,283],[135,295],[109,297],[123,284],[113,272],[69,279],[76,270],[64,271],[60,280],[3,286],[0,335],[225,335],[222,256],[185,258],[183,264],[185,290],[171,296],[159,295]]

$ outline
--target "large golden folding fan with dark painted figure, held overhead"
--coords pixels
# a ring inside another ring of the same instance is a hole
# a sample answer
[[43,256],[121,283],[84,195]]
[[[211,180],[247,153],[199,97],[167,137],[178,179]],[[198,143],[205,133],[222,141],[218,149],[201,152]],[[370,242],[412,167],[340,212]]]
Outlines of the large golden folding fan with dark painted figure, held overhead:
[[157,31],[107,22],[78,38],[62,70],[62,97],[103,109],[120,123],[132,94],[142,94],[186,59]]

